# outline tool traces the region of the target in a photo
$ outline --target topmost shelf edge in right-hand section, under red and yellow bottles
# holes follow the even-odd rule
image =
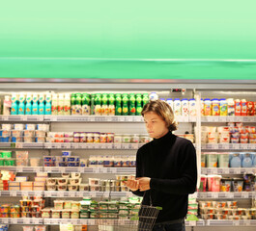
[[[202,116],[201,122],[256,122],[256,116]]]

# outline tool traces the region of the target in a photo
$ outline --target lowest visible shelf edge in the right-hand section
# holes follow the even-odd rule
[[[256,226],[256,219],[207,219],[206,226]]]

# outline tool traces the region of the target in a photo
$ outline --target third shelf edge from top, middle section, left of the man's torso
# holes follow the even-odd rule
[[[43,167],[48,173],[134,173],[135,167]]]

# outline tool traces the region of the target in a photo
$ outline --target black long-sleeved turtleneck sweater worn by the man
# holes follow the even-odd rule
[[[187,198],[196,190],[196,152],[191,141],[168,132],[140,147],[136,156],[136,177],[150,177],[151,189],[133,192],[143,196],[144,205],[162,207],[156,219],[165,222],[185,218]]]

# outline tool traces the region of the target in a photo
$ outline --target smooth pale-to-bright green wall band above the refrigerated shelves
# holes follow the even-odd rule
[[[255,9],[255,0],[2,2],[0,77],[256,79],[255,61],[223,62],[256,60]]]

